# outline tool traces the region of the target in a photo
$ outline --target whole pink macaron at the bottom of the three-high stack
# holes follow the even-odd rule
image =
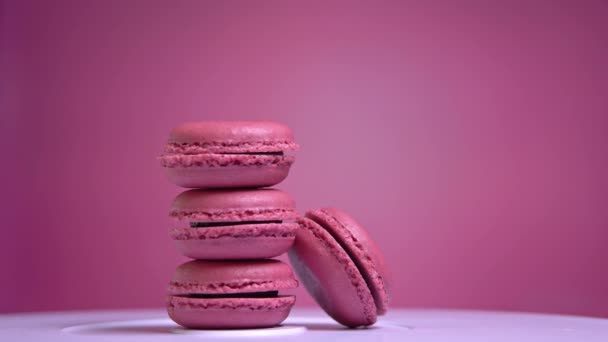
[[[278,292],[297,286],[291,268],[278,260],[193,260],[176,269],[167,312],[186,328],[272,327],[295,303]]]

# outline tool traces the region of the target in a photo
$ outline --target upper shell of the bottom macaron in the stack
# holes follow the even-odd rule
[[[169,294],[233,294],[278,291],[298,286],[291,268],[273,259],[246,261],[192,260],[181,264]]]

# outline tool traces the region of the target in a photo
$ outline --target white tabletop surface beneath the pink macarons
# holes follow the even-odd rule
[[[202,338],[202,339],[201,339]],[[344,329],[296,309],[280,327],[186,330],[164,310],[0,315],[0,341],[608,341],[608,319],[526,313],[395,310],[367,329]]]

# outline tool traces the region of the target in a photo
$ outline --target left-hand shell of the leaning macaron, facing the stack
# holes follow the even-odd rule
[[[289,260],[311,296],[345,326],[374,324],[374,298],[350,256],[316,222],[301,218],[298,223],[300,229],[288,252]]]

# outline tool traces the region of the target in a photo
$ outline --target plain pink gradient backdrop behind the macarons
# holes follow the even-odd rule
[[[608,2],[3,1],[0,312],[159,307],[177,123],[272,119],[393,306],[608,316]],[[298,305],[313,305],[302,289]]]

